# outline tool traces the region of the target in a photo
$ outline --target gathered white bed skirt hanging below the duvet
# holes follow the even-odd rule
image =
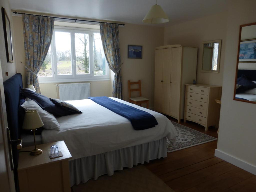
[[[167,156],[166,137],[141,145],[82,157],[69,161],[70,185],[78,185],[101,175],[113,175],[115,170],[133,167],[138,163],[149,162]]]

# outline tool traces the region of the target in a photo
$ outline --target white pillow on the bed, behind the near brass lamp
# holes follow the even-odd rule
[[[25,102],[21,105],[26,111],[37,110],[45,129],[60,130],[60,124],[56,120],[55,116],[51,113],[43,110],[35,101],[26,98]]]

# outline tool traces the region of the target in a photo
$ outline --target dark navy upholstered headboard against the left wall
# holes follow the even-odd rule
[[[20,137],[20,128],[18,120],[18,108],[20,100],[19,87],[23,88],[22,76],[20,73],[16,73],[14,76],[12,76],[4,82],[7,122],[8,127],[10,129],[10,136],[12,140],[17,140]],[[17,168],[18,150],[16,150],[16,146],[12,147],[14,168]]]

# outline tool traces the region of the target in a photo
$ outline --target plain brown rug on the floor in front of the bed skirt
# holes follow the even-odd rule
[[[86,183],[74,185],[73,192],[137,192],[158,191],[173,192],[161,179],[154,175],[144,165],[115,172],[114,175],[100,176],[97,180],[90,179]]]

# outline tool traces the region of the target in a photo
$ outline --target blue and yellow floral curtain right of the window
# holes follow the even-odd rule
[[[117,24],[100,23],[101,41],[109,68],[115,73],[112,97],[122,99],[121,59]]]

